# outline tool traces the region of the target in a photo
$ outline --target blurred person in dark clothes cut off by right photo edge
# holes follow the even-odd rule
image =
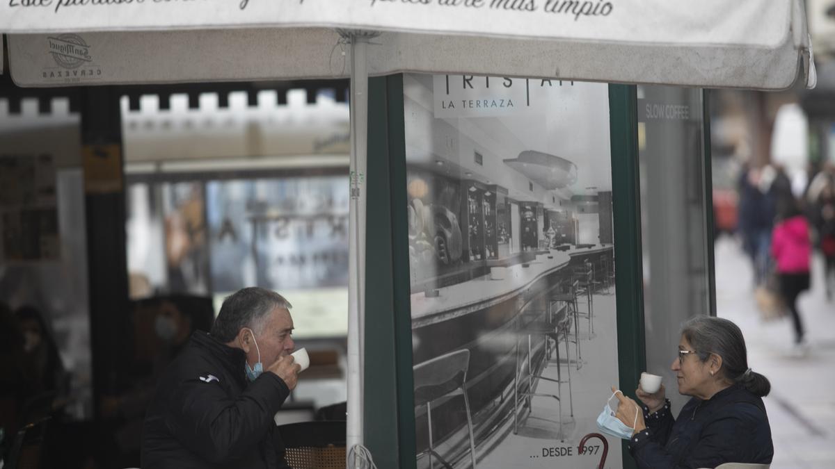
[[[819,175],[822,175],[822,184],[812,200],[812,223],[817,232],[817,247],[825,263],[823,284],[827,300],[832,301],[832,290],[835,290],[835,178],[823,171]]]

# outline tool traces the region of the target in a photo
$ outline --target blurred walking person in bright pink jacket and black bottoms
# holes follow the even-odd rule
[[[803,324],[797,310],[797,296],[809,289],[809,261],[812,242],[809,224],[796,204],[787,204],[777,216],[772,233],[772,256],[777,261],[780,293],[794,320],[795,345],[803,345]]]

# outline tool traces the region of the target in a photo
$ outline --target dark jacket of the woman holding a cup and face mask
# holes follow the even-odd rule
[[[741,385],[702,401],[692,398],[673,419],[670,402],[630,440],[641,469],[716,467],[724,462],[771,463],[772,430],[762,399]]]

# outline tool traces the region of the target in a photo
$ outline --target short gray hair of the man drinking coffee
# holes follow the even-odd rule
[[[243,288],[223,300],[220,314],[211,326],[211,335],[223,343],[235,340],[241,329],[248,327],[254,332],[261,332],[264,320],[272,310],[293,306],[275,291],[260,287]]]

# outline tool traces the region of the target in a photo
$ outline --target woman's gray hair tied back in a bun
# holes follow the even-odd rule
[[[721,356],[719,373],[726,380],[741,383],[756,396],[768,396],[772,384],[748,367],[745,338],[736,324],[722,318],[697,316],[684,324],[681,335],[696,350],[701,361],[707,361],[711,353]]]

